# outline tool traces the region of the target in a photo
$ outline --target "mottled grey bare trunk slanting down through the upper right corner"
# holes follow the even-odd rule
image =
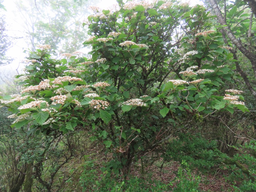
[[[249,50],[247,50],[233,35],[233,33],[231,32],[231,29],[228,27],[227,21],[224,19],[220,11],[220,8],[218,7],[216,0],[210,0],[209,2],[214,12],[216,13],[219,23],[222,25],[223,29],[225,30],[225,33],[227,34],[228,38],[244,54],[244,56],[250,60],[252,64],[252,70],[254,72],[254,77],[256,78],[256,55],[250,52]]]

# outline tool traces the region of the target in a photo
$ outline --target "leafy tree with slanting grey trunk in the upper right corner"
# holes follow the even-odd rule
[[[256,54],[255,45],[250,44],[252,39],[252,20],[253,14],[243,14],[247,9],[246,2],[249,3],[252,13],[255,14],[253,5],[255,1],[235,1],[228,2],[226,0],[217,2],[216,0],[205,1],[209,2],[212,10],[216,13],[218,22],[222,26],[220,31],[226,42],[231,44],[234,50],[230,50],[236,62],[236,68],[244,79],[248,89],[256,98],[255,85],[250,81],[248,74],[246,74],[237,61],[237,51],[240,51],[245,58],[251,63],[253,76],[256,78]],[[242,39],[242,40],[241,40]],[[248,44],[249,42],[249,44]],[[254,42],[255,44],[255,42]],[[249,66],[247,66],[249,67]]]

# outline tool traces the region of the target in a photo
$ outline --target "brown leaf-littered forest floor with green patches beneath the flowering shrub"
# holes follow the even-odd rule
[[[85,170],[86,173],[93,170],[94,180],[92,182],[85,183],[88,185],[86,191],[92,191],[90,188],[95,184],[96,180],[100,181],[102,172],[100,168],[103,167],[104,163],[111,159],[110,156],[102,155],[99,151],[95,151],[92,156],[87,156],[86,161],[84,158],[74,158],[70,164],[66,167],[63,167],[60,171],[60,175],[69,174],[70,169],[76,168],[76,173],[73,175],[72,180],[70,182],[65,183],[64,188],[65,192],[82,192],[80,176],[83,175]],[[146,159],[146,158],[145,158]],[[148,157],[150,159],[150,157]],[[88,166],[86,162],[92,162]],[[132,168],[129,177],[137,177],[145,182],[149,180],[160,181],[161,183],[168,184],[172,182],[172,188],[175,188],[176,185],[180,182],[180,178],[178,175],[178,170],[180,167],[180,162],[170,161],[163,163],[163,159],[160,158],[157,161],[148,161],[143,162],[143,166],[141,164],[141,160],[135,163]],[[188,175],[186,175],[186,170],[184,169],[185,174],[183,176],[187,177],[189,180],[197,180],[199,181],[198,190],[205,192],[233,192],[234,188],[233,184],[229,182],[226,177],[228,176],[228,170],[216,169],[215,171],[209,171],[206,173],[199,172],[198,170],[191,171]],[[190,175],[190,176],[189,176]],[[198,178],[199,179],[196,179]],[[128,179],[129,179],[128,177]],[[58,182],[56,182],[58,183]],[[151,188],[154,185],[154,182],[148,183],[148,188]],[[90,187],[91,186],[91,187]],[[54,189],[52,191],[55,191]],[[61,190],[60,190],[61,191]],[[151,191],[151,190],[149,190]],[[159,190],[160,192],[161,190]],[[191,190],[192,191],[192,190]],[[164,190],[163,190],[164,192]],[[186,192],[186,190],[185,190]]]

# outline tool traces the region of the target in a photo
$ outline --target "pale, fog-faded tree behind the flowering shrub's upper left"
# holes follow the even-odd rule
[[[26,4],[17,1],[30,49],[34,51],[38,44],[49,44],[60,52],[79,50],[85,34],[82,20],[90,3],[80,6],[73,0],[29,0]]]

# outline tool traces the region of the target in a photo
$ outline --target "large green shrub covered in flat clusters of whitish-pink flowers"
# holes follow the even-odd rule
[[[241,95],[224,97],[232,63],[203,7],[118,2],[118,10],[97,9],[88,18],[91,37],[84,45],[92,47],[92,58],[56,60],[37,50],[28,58],[22,95],[1,101],[16,114],[17,128],[90,130],[91,140],[113,154],[103,171],[126,175],[141,156],[193,127],[195,117],[248,109],[237,101]]]

